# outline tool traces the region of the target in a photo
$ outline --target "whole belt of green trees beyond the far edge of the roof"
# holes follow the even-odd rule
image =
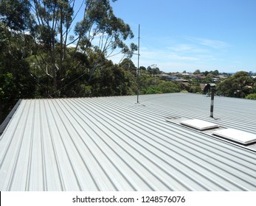
[[[201,93],[200,83],[219,75],[197,69],[169,82],[155,64],[136,68],[137,46],[126,44],[134,34],[111,0],[0,0],[0,20],[0,123],[18,99]],[[110,57],[121,53],[114,64]],[[226,75],[217,92],[254,99],[252,76]]]

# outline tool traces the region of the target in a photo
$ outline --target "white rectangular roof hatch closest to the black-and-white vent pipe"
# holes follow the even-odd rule
[[[209,121],[203,121],[196,118],[181,121],[181,124],[199,130],[213,129],[219,127],[218,124],[214,124]]]

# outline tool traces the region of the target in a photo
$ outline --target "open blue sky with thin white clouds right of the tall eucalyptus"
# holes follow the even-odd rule
[[[131,26],[134,43],[140,24],[139,65],[256,72],[255,0],[118,0],[112,7]]]

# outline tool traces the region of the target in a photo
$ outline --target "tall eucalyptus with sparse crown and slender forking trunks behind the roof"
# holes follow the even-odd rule
[[[120,48],[128,56],[136,49],[134,44],[131,49],[125,45],[124,40],[133,38],[133,32],[128,24],[114,15],[109,0],[33,2],[37,23],[35,34],[38,35],[35,39],[41,40],[49,52],[47,57],[41,55],[38,63],[42,63],[40,68],[52,77],[55,90],[60,89],[60,81],[70,63],[75,62],[77,52],[90,57],[91,52],[95,54],[94,59],[90,59],[89,68],[85,68],[85,72],[90,74],[90,82],[95,70],[100,68],[105,58],[114,54],[115,49]],[[77,5],[78,10],[75,9]],[[79,16],[82,18],[77,19]],[[68,49],[70,46],[75,49]],[[80,61],[73,66],[80,66]]]

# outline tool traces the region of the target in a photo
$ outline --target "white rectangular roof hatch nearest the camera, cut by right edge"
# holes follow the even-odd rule
[[[256,135],[249,133],[249,132],[243,132],[238,129],[220,129],[215,132],[212,132],[212,135],[217,135],[221,138],[229,139],[230,141],[235,141],[242,144],[249,144],[256,142]]]

